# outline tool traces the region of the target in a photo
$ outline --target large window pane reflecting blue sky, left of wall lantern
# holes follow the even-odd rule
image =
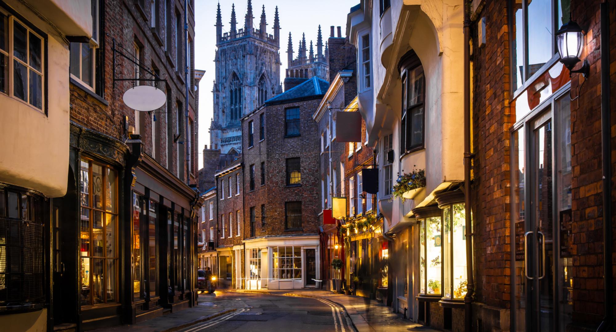
[[[553,29],[551,0],[527,1],[529,17],[528,47],[529,47],[529,77],[554,55],[552,52]]]

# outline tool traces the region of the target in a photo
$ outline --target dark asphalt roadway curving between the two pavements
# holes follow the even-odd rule
[[[344,310],[321,299],[216,291],[216,296],[201,295],[199,301],[206,301],[200,306],[237,310],[180,331],[353,331]]]

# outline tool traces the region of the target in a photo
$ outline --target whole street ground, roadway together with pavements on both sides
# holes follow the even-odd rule
[[[304,299],[300,299],[304,298]],[[199,331],[438,331],[413,323],[377,301],[326,290],[217,290],[198,306],[134,325],[95,330]]]

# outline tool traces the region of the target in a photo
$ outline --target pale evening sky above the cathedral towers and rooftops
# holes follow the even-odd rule
[[[229,32],[231,20],[231,5],[235,3],[237,26],[243,28],[248,0],[222,0],[222,32]],[[195,69],[205,70],[205,76],[199,84],[199,168],[203,167],[204,144],[209,146],[209,125],[212,119],[212,87],[214,82],[214,51],[216,50],[216,5],[217,0],[195,1]],[[289,32],[293,38],[293,51],[297,56],[302,33],[306,33],[306,48],[310,49],[310,40],[317,53],[317,30],[321,25],[323,44],[330,36],[330,26],[342,26],[342,35],[346,30],[347,14],[351,7],[359,4],[359,0],[255,0],[253,1],[253,23],[256,28],[261,22],[262,6],[265,5],[267,17],[267,33],[274,34],[274,10],[278,6],[280,17],[280,82],[283,81],[286,69],[286,46]]]

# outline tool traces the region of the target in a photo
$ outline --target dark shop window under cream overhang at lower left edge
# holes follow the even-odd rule
[[[0,310],[45,302],[43,197],[0,188]]]

